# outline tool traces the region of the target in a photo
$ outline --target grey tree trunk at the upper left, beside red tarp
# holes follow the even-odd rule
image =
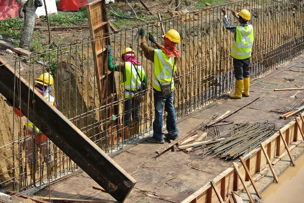
[[[20,40],[20,47],[22,49],[29,50],[31,48],[33,30],[35,26],[35,11],[37,7],[34,4],[34,0],[29,0],[24,5],[24,29]]]

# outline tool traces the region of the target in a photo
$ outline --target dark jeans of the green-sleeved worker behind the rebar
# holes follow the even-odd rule
[[[135,123],[139,122],[139,108],[140,108],[140,102],[137,99],[130,98],[125,99],[124,102],[124,125],[129,126],[130,117],[132,114],[132,118],[134,119]]]

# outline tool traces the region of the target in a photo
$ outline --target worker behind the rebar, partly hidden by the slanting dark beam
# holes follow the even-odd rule
[[[52,85],[54,85],[54,79],[52,75],[46,72],[40,75],[40,77],[35,80],[35,83],[35,91],[43,95],[43,97],[48,100],[55,108],[60,110],[57,100],[50,95],[50,92],[52,91]],[[13,106],[12,99],[6,100],[6,103],[9,106]],[[24,116],[17,108],[14,109],[14,112],[20,117]],[[40,150],[40,158],[43,162],[41,165],[46,164],[47,161],[49,161],[51,174],[53,174],[55,171],[52,142],[47,138],[46,135],[42,134],[39,128],[35,127],[28,118],[25,121],[24,127],[25,134],[28,135],[26,136],[25,143],[27,163],[31,179],[34,183],[35,180],[39,180],[38,150]],[[49,160],[47,154],[49,155]]]

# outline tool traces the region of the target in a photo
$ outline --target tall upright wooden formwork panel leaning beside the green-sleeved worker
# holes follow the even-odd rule
[[[105,0],[97,0],[87,5],[87,13],[92,37],[92,49],[95,60],[96,83],[101,106],[103,136],[108,144],[117,142],[119,119],[111,120],[112,115],[118,115],[117,90],[113,72],[107,69],[107,52],[105,46],[110,44],[106,33],[108,19]],[[115,105],[112,105],[115,104]]]

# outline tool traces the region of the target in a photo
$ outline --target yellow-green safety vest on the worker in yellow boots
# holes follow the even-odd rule
[[[231,47],[231,56],[235,59],[248,59],[251,57],[251,49],[254,40],[253,27],[237,26],[236,39]]]

